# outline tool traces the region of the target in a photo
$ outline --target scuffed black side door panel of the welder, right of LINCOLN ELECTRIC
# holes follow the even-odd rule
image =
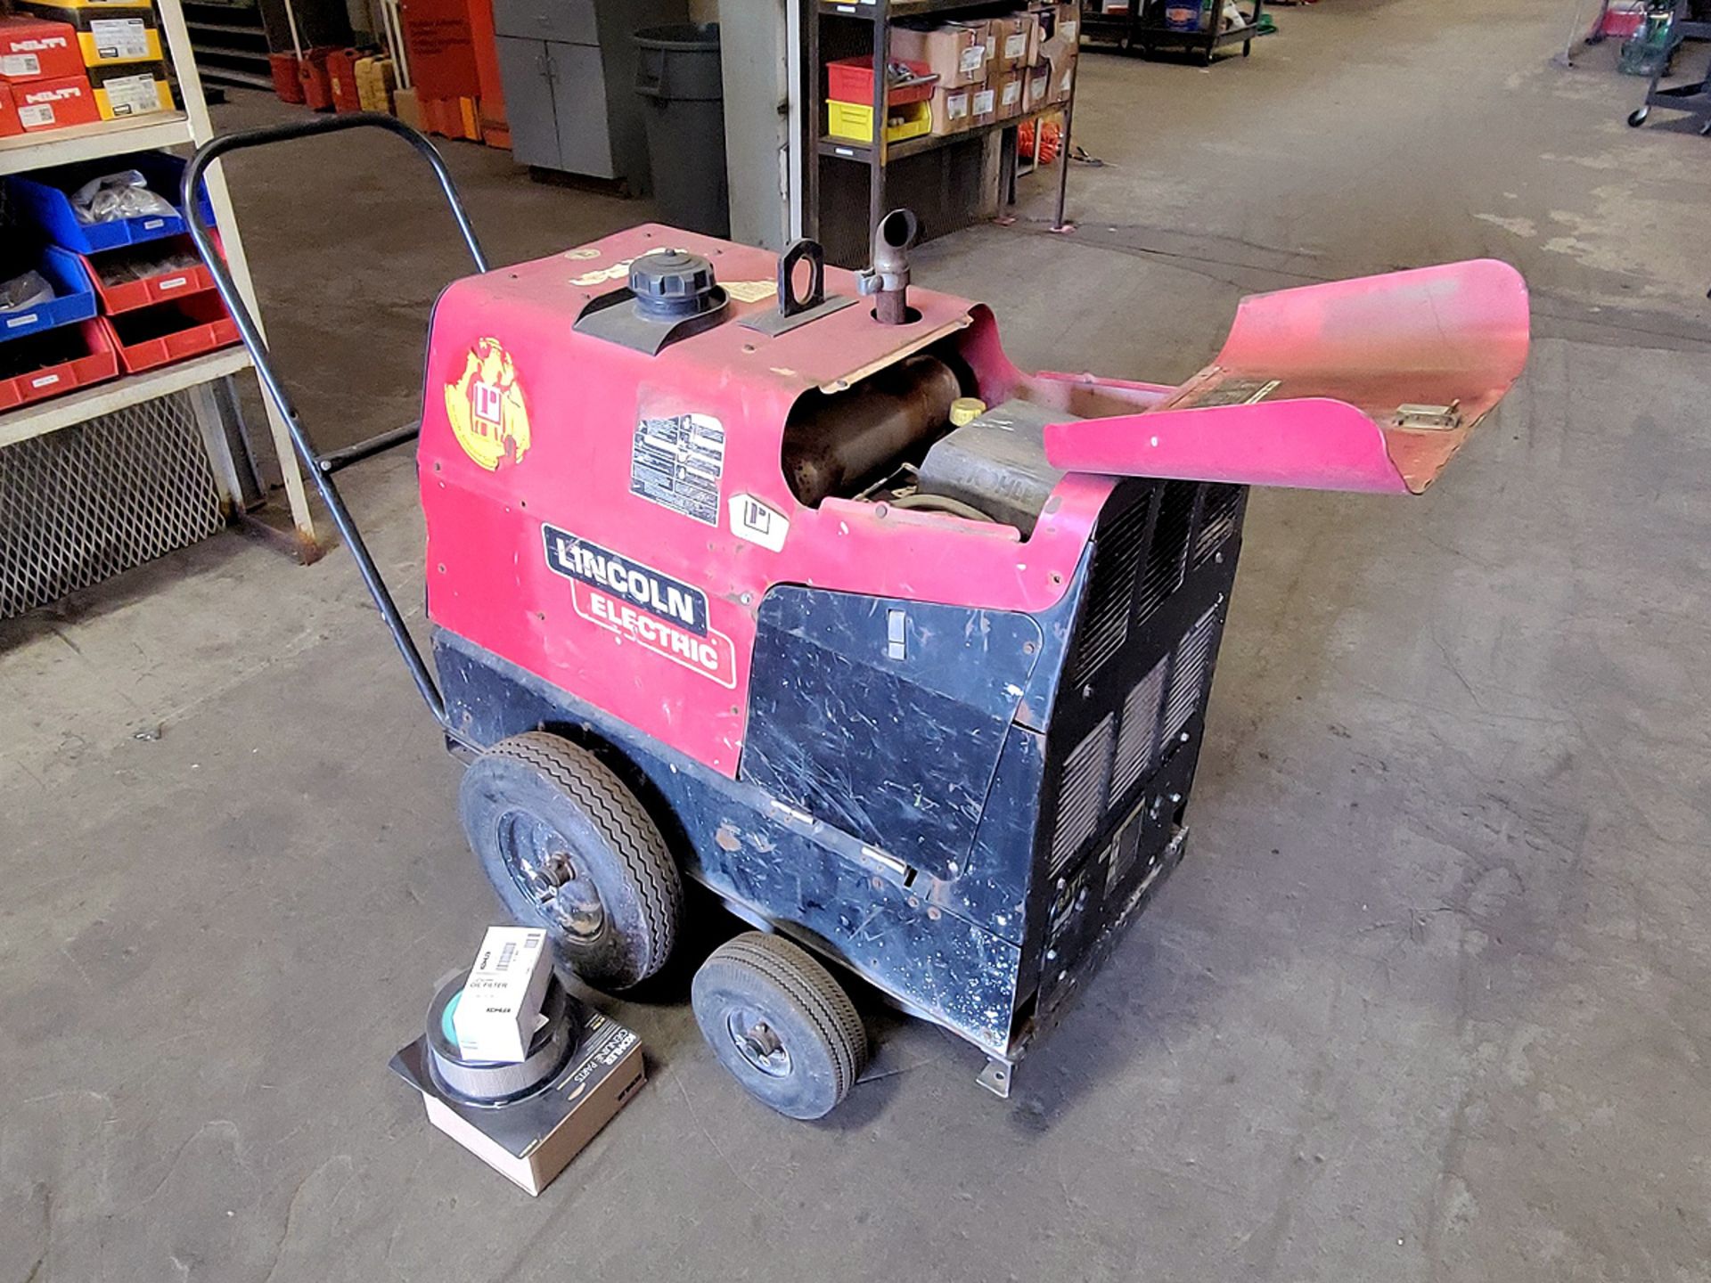
[[[773,588],[737,778],[951,878],[1039,647],[1021,614]]]

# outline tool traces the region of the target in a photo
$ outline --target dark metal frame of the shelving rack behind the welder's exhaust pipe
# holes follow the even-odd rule
[[[806,200],[802,204],[802,231],[806,236],[816,239],[821,238],[821,180],[820,180],[820,163],[823,159],[832,159],[837,163],[854,163],[867,166],[867,234],[871,238],[873,229],[879,226],[879,219],[885,217],[888,210],[888,169],[898,161],[905,161],[912,156],[922,156],[926,152],[936,152],[946,147],[960,147],[979,139],[986,139],[991,133],[999,133],[1003,137],[1003,159],[1001,159],[1001,180],[999,190],[1004,193],[1006,202],[1015,202],[1015,173],[1016,173],[1016,128],[1027,118],[1039,120],[1042,115],[1054,115],[1057,111],[1064,116],[1064,137],[1063,137],[1063,168],[1057,176],[1057,222],[1056,226],[1064,226],[1064,197],[1066,197],[1066,178],[1069,173],[1069,121],[1075,106],[1075,91],[1071,91],[1068,101],[1056,103],[1044,113],[1030,113],[1028,116],[1011,116],[1009,120],[996,120],[977,128],[963,130],[960,133],[934,135],[927,133],[917,139],[905,139],[903,142],[888,142],[885,137],[885,116],[886,116],[886,82],[885,75],[873,77],[873,120],[874,120],[874,140],[866,147],[857,142],[845,142],[844,139],[825,137],[825,103],[826,103],[826,77],[825,77],[825,60],[821,55],[821,22],[830,21],[859,21],[871,24],[871,51],[873,65],[885,67],[890,62],[891,53],[891,24],[898,19],[909,17],[951,17],[955,14],[965,14],[972,17],[992,17],[1008,10],[1015,10],[1016,5],[1006,0],[801,0],[802,2],[802,33],[806,38],[808,56],[802,60],[802,121],[804,132],[808,135],[806,154],[809,163],[806,166]],[[950,231],[946,228],[944,231]],[[866,251],[866,241],[862,243],[862,251]],[[828,251],[830,253],[830,251]],[[837,257],[837,255],[833,255]],[[847,257],[847,255],[845,255]],[[861,260],[866,262],[864,258]],[[845,263],[849,267],[859,265],[857,262]]]

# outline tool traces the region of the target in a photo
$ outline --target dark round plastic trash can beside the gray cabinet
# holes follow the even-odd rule
[[[674,228],[729,236],[719,24],[643,27],[635,43],[659,217]]]

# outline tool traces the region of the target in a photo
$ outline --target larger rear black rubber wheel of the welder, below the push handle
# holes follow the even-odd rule
[[[683,879],[640,799],[585,748],[530,730],[464,775],[469,845],[518,922],[542,925],[592,985],[626,989],[666,965]]]

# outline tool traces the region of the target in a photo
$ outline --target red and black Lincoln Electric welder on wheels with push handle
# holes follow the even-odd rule
[[[435,306],[417,470],[433,671],[255,323],[204,257],[453,751],[469,842],[561,961],[666,961],[684,876],[758,931],[693,982],[755,1097],[862,1069],[842,979],[1011,1066],[1182,859],[1247,488],[1420,493],[1507,392],[1495,262],[1242,301],[1181,387],[1030,375],[909,287],[914,219],[823,267],[660,226],[488,269]],[[828,970],[821,961],[833,963]],[[833,979],[833,972],[840,979]]]

